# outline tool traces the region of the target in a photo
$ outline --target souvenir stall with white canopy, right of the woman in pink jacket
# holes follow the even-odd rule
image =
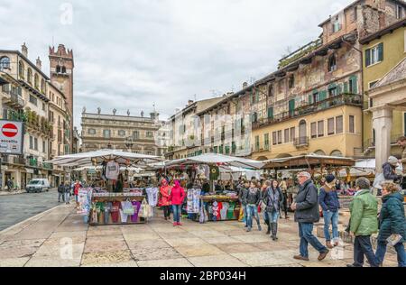
[[[231,190],[221,193],[215,191],[215,183],[221,180],[220,168],[230,170],[229,167],[258,170],[263,167],[263,163],[215,153],[166,162],[167,172],[180,170],[183,173],[189,170],[189,173],[192,173],[189,175],[189,186],[193,187],[187,189],[185,201],[191,220],[205,223],[238,219],[241,208],[238,194]],[[208,181],[210,190],[202,191],[202,185]]]

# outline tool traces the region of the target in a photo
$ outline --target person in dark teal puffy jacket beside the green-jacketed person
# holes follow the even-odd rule
[[[379,234],[376,258],[380,264],[386,253],[387,239],[392,236],[398,240],[394,249],[398,257],[398,266],[406,267],[406,253],[403,243],[406,243],[406,219],[404,217],[403,195],[399,186],[392,182],[383,183],[383,205],[379,215]]]

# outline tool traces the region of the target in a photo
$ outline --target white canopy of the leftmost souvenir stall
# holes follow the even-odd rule
[[[56,157],[51,162],[60,166],[88,166],[94,163],[100,164],[106,160],[115,160],[121,165],[139,166],[140,164],[147,165],[148,163],[161,161],[158,156],[133,153],[133,152],[120,152],[116,150],[100,150],[96,152],[80,152],[76,154],[68,154]]]

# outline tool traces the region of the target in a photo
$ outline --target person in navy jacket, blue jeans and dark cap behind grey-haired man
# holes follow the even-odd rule
[[[326,182],[320,188],[318,193],[318,204],[323,210],[324,218],[324,237],[326,246],[331,249],[338,245],[338,209],[340,202],[338,200],[336,177],[332,174],[326,176]],[[330,224],[333,230],[333,244],[331,244]]]

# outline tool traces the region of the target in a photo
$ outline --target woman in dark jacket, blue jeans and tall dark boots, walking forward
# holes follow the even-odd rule
[[[263,203],[266,205],[265,211],[272,231],[272,241],[276,241],[278,240],[278,237],[276,236],[278,233],[278,220],[283,205],[283,194],[277,180],[273,180],[271,186],[266,189]]]

